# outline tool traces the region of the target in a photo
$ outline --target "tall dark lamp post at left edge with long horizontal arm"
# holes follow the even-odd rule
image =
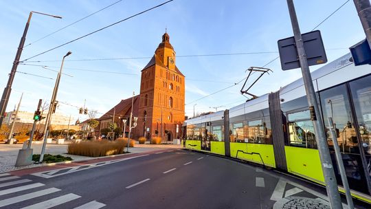
[[[62,17],[52,15],[52,14],[45,14],[45,13],[34,12],[34,11],[30,12],[30,15],[28,16],[27,23],[25,25],[25,30],[23,31],[21,41],[19,42],[18,50],[16,51],[16,57],[14,58],[12,70],[10,71],[10,74],[9,74],[8,83],[6,84],[6,87],[3,91],[3,96],[1,96],[1,100],[0,100],[0,126],[1,126],[1,124],[3,124],[3,119],[5,117],[4,113],[6,111],[6,107],[8,106],[8,100],[9,100],[9,97],[10,97],[10,93],[12,92],[12,83],[13,83],[13,80],[14,80],[14,76],[16,74],[16,68],[18,67],[18,64],[19,64],[19,59],[21,58],[23,46],[25,45],[25,36],[27,35],[27,30],[28,30],[28,27],[30,26],[32,13],[43,14],[43,15],[46,15],[46,16],[49,16],[49,17],[55,17],[55,18],[59,18],[59,19],[62,18]]]

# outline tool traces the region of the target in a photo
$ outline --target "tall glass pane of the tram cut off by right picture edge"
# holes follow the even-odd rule
[[[371,168],[371,76],[350,83],[352,98],[355,104],[359,135],[362,140],[366,163]],[[369,172],[371,175],[371,172]]]

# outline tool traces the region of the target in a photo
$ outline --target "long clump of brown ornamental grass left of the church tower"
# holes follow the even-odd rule
[[[102,141],[87,141],[80,143],[69,144],[67,153],[71,155],[82,155],[88,157],[102,157],[106,155],[122,154],[124,147],[127,144],[124,140],[117,140],[110,142],[108,140]]]

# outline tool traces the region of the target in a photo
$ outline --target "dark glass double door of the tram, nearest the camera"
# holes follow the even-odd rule
[[[368,85],[371,85],[369,81]],[[337,132],[337,141],[342,153],[346,176],[348,178],[349,186],[353,190],[358,190],[364,193],[368,192],[368,171],[370,164],[367,164],[364,155],[365,145],[359,138],[359,124],[355,116],[355,104],[352,99],[352,91],[350,91],[348,84],[339,85],[331,89],[327,89],[319,93],[321,99],[322,113],[324,115],[324,124],[328,127],[328,117],[332,117],[335,123],[335,130]],[[369,86],[370,90],[371,86]],[[357,90],[356,90],[357,91]],[[368,94],[368,107],[363,109],[371,116],[370,107],[371,94]],[[366,114],[367,115],[367,114]],[[371,117],[370,117],[371,121]],[[370,122],[368,122],[370,127]],[[330,137],[328,133],[328,137]],[[341,185],[341,176],[336,165],[335,151],[332,140],[328,140],[331,158],[335,168],[335,175],[337,175],[337,183]],[[366,175],[367,173],[367,175]]]

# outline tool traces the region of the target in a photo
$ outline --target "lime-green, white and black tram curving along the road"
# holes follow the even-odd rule
[[[371,68],[355,67],[351,57],[346,54],[312,72],[321,111],[317,117],[322,117],[325,127],[327,118],[333,118],[352,196],[371,203]],[[325,184],[302,79],[231,109],[186,120],[183,129],[188,149],[243,159]],[[336,165],[333,142],[327,136]]]

